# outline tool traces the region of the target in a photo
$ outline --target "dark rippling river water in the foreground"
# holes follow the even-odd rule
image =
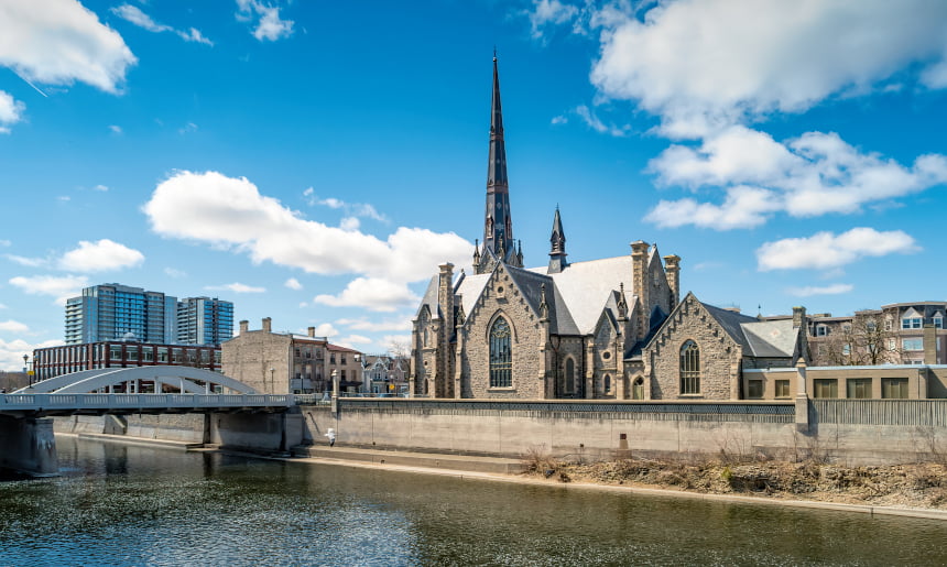
[[[947,522],[59,438],[0,565],[941,565]]]

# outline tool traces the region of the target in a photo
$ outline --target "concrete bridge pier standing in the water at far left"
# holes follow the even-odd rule
[[[42,477],[58,475],[53,419],[0,415],[0,468]]]

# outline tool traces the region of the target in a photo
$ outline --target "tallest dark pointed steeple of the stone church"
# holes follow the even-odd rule
[[[493,100],[490,111],[490,151],[487,163],[487,209],[483,216],[483,252],[477,273],[490,272],[497,262],[523,266],[513,239],[510,188],[507,182],[507,148],[503,142],[503,110],[500,74],[493,54]]]

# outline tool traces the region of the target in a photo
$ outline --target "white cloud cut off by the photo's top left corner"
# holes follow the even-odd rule
[[[29,81],[78,80],[117,92],[137,62],[121,35],[76,0],[8,0],[0,8],[0,65]]]

